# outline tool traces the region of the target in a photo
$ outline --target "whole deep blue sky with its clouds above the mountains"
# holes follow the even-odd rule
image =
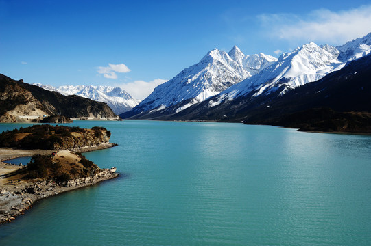
[[[0,0],[0,73],[143,99],[214,48],[278,57],[369,32],[370,1]]]

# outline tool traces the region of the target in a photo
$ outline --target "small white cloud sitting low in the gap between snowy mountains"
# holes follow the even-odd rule
[[[131,96],[136,99],[143,100],[151,94],[155,87],[165,83],[165,79],[154,79],[153,81],[134,81],[119,85],[123,90],[127,91]]]

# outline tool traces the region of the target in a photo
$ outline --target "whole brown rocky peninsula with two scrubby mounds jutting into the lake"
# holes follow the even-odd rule
[[[117,178],[116,168],[101,169],[82,152],[115,146],[106,128],[35,125],[0,134],[0,223],[22,215],[34,202]],[[3,163],[32,156],[28,165]]]

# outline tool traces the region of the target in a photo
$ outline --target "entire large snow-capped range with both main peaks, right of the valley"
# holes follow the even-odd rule
[[[278,59],[261,53],[246,56],[237,47],[228,54],[215,49],[200,63],[156,87],[151,95],[121,117],[241,122],[246,120],[247,109],[261,104],[271,106],[270,102],[276,98],[342,70],[348,62],[365,57],[370,51],[371,33],[337,47],[309,42],[283,53]],[[250,57],[254,57],[254,62],[247,62]],[[210,92],[205,88],[215,87],[219,92],[213,90],[214,96],[202,94]]]

